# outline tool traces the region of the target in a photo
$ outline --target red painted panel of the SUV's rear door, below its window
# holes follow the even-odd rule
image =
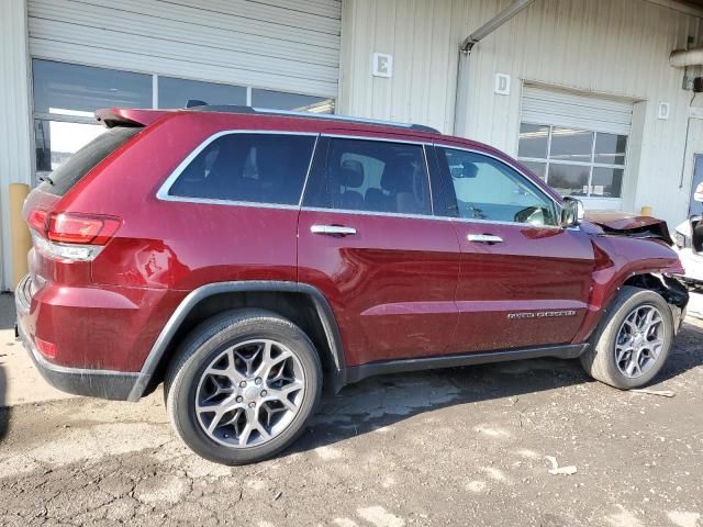
[[[312,225],[357,234],[323,236]],[[302,211],[299,240],[299,280],[330,301],[348,365],[446,351],[460,260],[450,222]]]

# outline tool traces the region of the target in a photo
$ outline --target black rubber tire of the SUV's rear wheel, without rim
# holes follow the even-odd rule
[[[234,448],[215,442],[196,414],[196,392],[203,370],[228,346],[253,338],[276,340],[289,348],[304,371],[300,410],[290,424],[267,442]],[[290,321],[264,310],[236,310],[216,315],[196,327],[170,361],[165,379],[168,414],[181,439],[199,456],[228,466],[268,459],[291,445],[304,430],[320,402],[322,366],[310,338]]]

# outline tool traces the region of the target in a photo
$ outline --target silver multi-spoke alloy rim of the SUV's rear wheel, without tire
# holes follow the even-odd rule
[[[220,445],[256,447],[290,425],[304,392],[304,370],[290,348],[270,339],[247,340],[220,352],[203,370],[196,414]]]

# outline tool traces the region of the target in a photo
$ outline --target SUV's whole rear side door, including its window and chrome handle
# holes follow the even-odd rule
[[[433,216],[425,145],[323,136],[298,234],[299,280],[328,299],[347,365],[446,351],[460,254]]]

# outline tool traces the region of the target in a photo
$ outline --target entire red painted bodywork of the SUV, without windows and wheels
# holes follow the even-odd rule
[[[179,302],[213,282],[300,281],[330,302],[346,363],[583,341],[634,272],[676,266],[663,245],[581,229],[160,201],[157,190],[203,141],[228,130],[269,130],[416,141],[504,154],[478,143],[372,124],[291,116],[112,110],[146,127],[65,197],[34,190],[35,210],[122,218],[92,262],[30,255],[33,296],[20,321],[56,346],[57,365],[135,372]],[[533,178],[526,170],[527,177]],[[559,197],[533,178],[545,193]],[[345,225],[356,236],[312,234]],[[494,234],[480,245],[468,234]],[[594,250],[594,247],[596,249]],[[605,255],[605,257],[603,257]],[[566,317],[511,319],[573,310]]]

